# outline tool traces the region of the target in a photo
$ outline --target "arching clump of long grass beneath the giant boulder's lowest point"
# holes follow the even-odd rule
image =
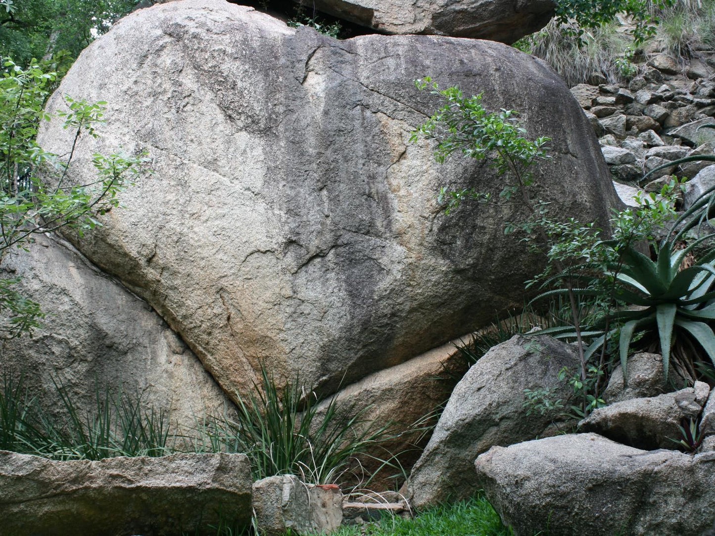
[[[236,394],[237,412],[199,422],[194,450],[245,452],[255,480],[298,475],[307,483],[337,482],[360,457],[395,437],[390,423],[375,425],[370,407],[325,403],[299,379],[277,387],[262,368],[261,384],[248,396]],[[378,460],[390,465],[390,457]]]

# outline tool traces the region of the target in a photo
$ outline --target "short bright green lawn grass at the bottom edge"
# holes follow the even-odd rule
[[[332,536],[511,536],[499,516],[485,500],[473,499],[440,505],[416,517],[403,519],[386,515],[380,522],[341,527]]]

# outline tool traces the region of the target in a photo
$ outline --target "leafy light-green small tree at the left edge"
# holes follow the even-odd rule
[[[0,79],[0,268],[6,254],[24,249],[37,234],[62,227],[81,235],[99,225],[96,217],[119,207],[117,194],[143,172],[146,152],[128,156],[96,153],[95,180],[72,184],[69,168],[82,136],[98,137],[95,126],[104,122],[104,104],[65,96],[68,111],[56,113],[64,128],[74,132],[68,157],[47,152],[36,142],[41,121],[51,119],[43,106],[56,78],[36,61],[22,69],[6,59]],[[31,333],[42,317],[39,304],[13,287],[18,277],[0,279],[0,338]]]

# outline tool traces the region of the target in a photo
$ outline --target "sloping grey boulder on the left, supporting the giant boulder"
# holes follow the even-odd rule
[[[172,424],[192,427],[194,415],[220,413],[229,402],[166,322],[142,299],[87,262],[57,237],[37,237],[29,252],[9,254],[6,274],[46,314],[31,339],[0,342],[0,367],[24,374],[47,410],[61,407],[53,379],[84,415],[96,410],[96,389],[121,385],[143,406],[168,411]],[[230,403],[230,402],[229,402]]]

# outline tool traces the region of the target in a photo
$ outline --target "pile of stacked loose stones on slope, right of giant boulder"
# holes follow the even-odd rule
[[[713,154],[715,130],[699,127],[715,123],[715,55],[680,66],[657,54],[627,88],[578,84],[571,93],[591,121],[617,182],[636,182],[676,159]],[[662,169],[646,191],[659,190],[671,174],[694,179],[708,165],[690,162]]]

